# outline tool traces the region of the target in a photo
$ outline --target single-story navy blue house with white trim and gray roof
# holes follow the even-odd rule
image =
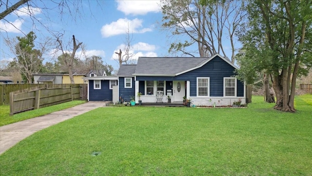
[[[156,102],[156,91],[161,90],[163,102],[170,95],[175,103],[182,103],[186,96],[194,105],[229,106],[238,99],[246,102],[245,85],[233,77],[235,69],[238,67],[219,54],[209,58],[139,57],[137,65],[120,66],[116,76],[84,79],[89,84],[89,101],[129,100],[141,92],[143,103]],[[113,80],[118,86],[111,86]]]

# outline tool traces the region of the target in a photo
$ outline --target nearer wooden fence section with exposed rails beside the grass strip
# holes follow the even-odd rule
[[[10,92],[10,115],[25,110],[36,110],[80,99],[79,85],[65,88],[37,88],[24,92]]]

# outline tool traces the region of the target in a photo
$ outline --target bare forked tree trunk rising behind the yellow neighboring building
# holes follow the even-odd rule
[[[60,37],[57,38],[57,42],[59,43],[58,49],[62,52],[62,57],[63,57],[64,63],[68,69],[70,82],[71,82],[71,84],[74,84],[75,82],[74,82],[74,77],[73,77],[73,62],[75,60],[76,51],[78,50],[78,48],[80,47],[82,42],[76,41],[75,35],[73,35],[73,51],[72,52],[70,52],[66,49],[68,45],[63,46]],[[78,42],[78,44],[77,44],[77,42]]]

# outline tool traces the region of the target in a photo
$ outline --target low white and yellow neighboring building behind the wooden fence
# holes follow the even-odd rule
[[[34,73],[34,84],[71,84],[69,74]],[[75,84],[84,84],[84,74],[73,74]]]

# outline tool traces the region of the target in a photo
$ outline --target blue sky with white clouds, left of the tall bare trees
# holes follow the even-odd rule
[[[55,6],[51,1],[34,2],[39,7]],[[100,56],[104,63],[112,65],[115,69],[118,69],[118,63],[113,60],[117,58],[115,52],[119,48],[123,50],[122,44],[126,41],[128,24],[132,37],[132,53],[136,53],[134,58],[173,56],[168,53],[168,49],[171,40],[174,39],[168,37],[170,35],[168,31],[161,29],[162,14],[159,0],[105,0],[98,2],[82,0],[81,3],[83,8],[79,9],[78,15],[74,15],[74,18],[68,14],[68,11],[61,14],[62,17],[60,17],[57,8],[52,10],[34,9],[34,14],[50,29],[65,31],[64,42],[69,43],[71,36],[75,35],[76,39],[84,44],[87,56]],[[3,7],[0,8],[2,12]],[[19,10],[22,11],[22,8],[20,7]],[[16,36],[23,36],[22,32],[27,34],[32,30],[36,33],[38,41],[52,37],[46,28],[43,28],[38,22],[35,22],[34,25],[31,18],[23,13],[15,12],[6,16],[5,19],[15,24],[20,30],[6,21],[0,21],[1,61],[14,57],[5,46],[3,37],[16,38]],[[81,50],[78,51],[77,56],[79,55],[81,56]],[[80,59],[83,57],[81,56]],[[48,57],[45,61],[51,62]]]

